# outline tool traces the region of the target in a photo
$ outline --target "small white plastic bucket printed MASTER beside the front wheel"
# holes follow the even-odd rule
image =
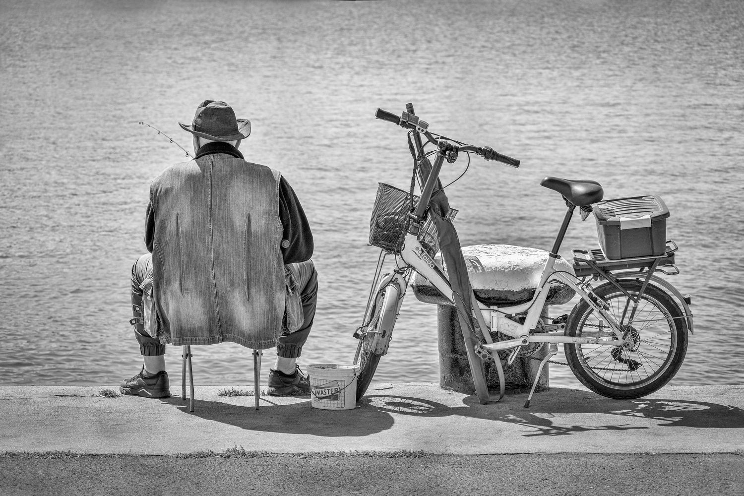
[[[356,408],[356,365],[310,364],[310,405],[321,410]]]

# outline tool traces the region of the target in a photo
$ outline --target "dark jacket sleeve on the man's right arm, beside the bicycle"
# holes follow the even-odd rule
[[[281,244],[284,263],[310,260],[314,249],[310,224],[295,190],[283,176],[279,179],[279,219],[284,228]]]

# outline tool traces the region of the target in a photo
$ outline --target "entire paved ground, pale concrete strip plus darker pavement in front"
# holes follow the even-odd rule
[[[175,382],[179,378],[173,377]],[[551,387],[479,405],[373,383],[355,410],[309,396],[99,396],[0,387],[2,495],[741,495],[744,386],[618,401]]]

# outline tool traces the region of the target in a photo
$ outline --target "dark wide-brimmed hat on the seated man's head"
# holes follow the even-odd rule
[[[250,120],[236,119],[231,106],[215,100],[204,100],[196,109],[191,125],[179,122],[179,126],[214,141],[243,140],[251,134]]]

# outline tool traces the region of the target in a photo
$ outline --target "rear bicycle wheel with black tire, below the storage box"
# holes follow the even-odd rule
[[[634,296],[641,291],[638,280],[622,280],[618,284]],[[612,283],[598,287],[594,294],[609,304],[609,312],[620,321],[628,297]],[[564,335],[580,336],[582,329],[596,330],[603,325],[602,321],[601,315],[581,300],[568,316]],[[682,366],[687,352],[682,309],[666,292],[648,285],[638,302],[631,332],[638,336],[634,350],[564,344],[565,357],[574,376],[594,393],[612,399],[641,398],[664,387]]]

